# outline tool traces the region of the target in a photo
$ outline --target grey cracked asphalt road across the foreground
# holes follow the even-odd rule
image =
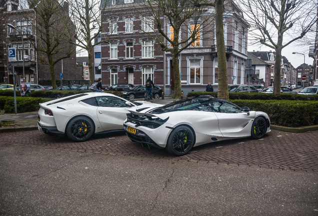
[[[0,215],[318,215],[314,171],[1,143],[0,182]]]

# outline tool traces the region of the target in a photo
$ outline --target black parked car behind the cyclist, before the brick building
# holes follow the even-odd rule
[[[157,99],[162,95],[162,89],[157,85],[152,87],[152,97]],[[134,98],[143,98],[145,94],[145,85],[136,85],[130,88],[129,90],[122,91],[124,98],[134,99]]]

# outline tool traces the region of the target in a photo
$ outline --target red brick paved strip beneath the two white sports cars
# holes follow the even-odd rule
[[[291,133],[272,130],[263,139],[219,141],[192,148],[188,154],[173,156],[161,149],[132,142],[124,132],[96,135],[86,142],[49,136],[37,130],[2,133],[3,144],[40,146],[81,152],[94,152],[190,162],[318,171],[318,131]]]

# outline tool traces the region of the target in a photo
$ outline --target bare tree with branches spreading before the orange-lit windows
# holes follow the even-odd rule
[[[158,43],[163,51],[172,55],[174,72],[174,98],[181,97],[181,82],[179,72],[179,53],[195,43],[204,33],[210,32],[213,21],[206,7],[196,7],[189,0],[145,0],[145,6],[140,10],[142,20],[152,31],[143,31]],[[164,29],[168,23],[170,29]],[[139,26],[143,30],[142,26]],[[186,35],[186,36],[185,36]],[[165,83],[165,81],[164,81]]]

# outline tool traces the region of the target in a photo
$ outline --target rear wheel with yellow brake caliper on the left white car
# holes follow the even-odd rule
[[[66,134],[73,141],[86,141],[94,134],[94,124],[88,117],[74,117],[67,124]]]

